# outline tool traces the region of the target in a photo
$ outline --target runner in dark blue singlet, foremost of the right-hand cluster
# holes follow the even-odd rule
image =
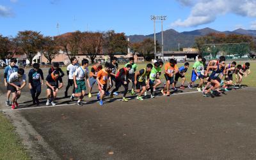
[[[205,86],[205,88],[203,89],[203,94],[204,96],[206,94],[208,94],[209,92],[214,92],[214,91],[217,91],[218,93],[220,93],[220,90],[219,90],[219,87],[220,87],[220,83],[221,83],[221,79],[219,77],[219,75],[221,73],[223,73],[224,75],[224,72],[225,72],[225,61],[222,61],[222,59],[220,61],[218,61],[218,65],[217,66],[208,66],[207,67],[207,70],[205,72],[205,75],[208,74],[208,71],[209,70],[212,70],[212,73],[211,75],[209,76],[208,78],[208,84]],[[209,85],[212,85],[211,87],[209,87],[209,89],[207,89],[207,87]]]

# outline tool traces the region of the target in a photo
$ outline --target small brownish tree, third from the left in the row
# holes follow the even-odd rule
[[[60,54],[60,47],[57,45],[56,40],[51,36],[44,37],[42,44],[42,54],[50,63],[52,63],[52,59]]]

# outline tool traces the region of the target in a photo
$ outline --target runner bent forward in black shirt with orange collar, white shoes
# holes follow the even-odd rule
[[[46,105],[49,106],[51,103],[52,106],[55,106],[56,103],[54,103],[54,100],[56,99],[59,89],[61,89],[63,87],[63,82],[62,82],[62,78],[60,76],[60,71],[58,71],[58,70],[53,71],[51,74],[49,74],[45,78],[45,80],[46,80],[45,84],[47,85]],[[59,82],[60,82],[60,85],[59,85]]]

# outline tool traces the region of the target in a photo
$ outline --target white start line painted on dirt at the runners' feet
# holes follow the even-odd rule
[[[179,95],[179,94],[192,94],[192,93],[199,93],[199,91],[194,91],[194,92],[182,92],[182,93],[174,93],[171,94],[171,96],[175,96],[175,95]],[[159,96],[156,96],[159,97]],[[131,99],[131,98],[129,98]],[[121,101],[121,99],[116,99],[117,101]],[[106,101],[111,101],[111,100],[106,100]],[[86,104],[86,102],[84,102],[83,104]],[[50,107],[58,107],[58,106],[69,106],[69,105],[76,105],[76,103],[71,103],[71,104],[62,104],[62,105],[55,105],[55,106],[35,106],[35,107],[22,107],[22,108],[17,108],[15,110],[31,110],[31,109],[38,109],[38,108],[50,108]],[[15,111],[12,109],[6,109],[6,110],[1,110],[2,112],[6,112],[6,111]]]

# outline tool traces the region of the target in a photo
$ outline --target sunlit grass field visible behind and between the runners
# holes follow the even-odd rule
[[[188,84],[189,80],[191,79],[192,66],[193,66],[194,62],[189,62],[189,64],[190,64],[189,69],[186,73],[186,84]],[[243,64],[243,62],[237,62],[237,64]],[[147,62],[138,63],[138,69],[145,68],[146,65],[147,65]],[[179,67],[182,65],[184,65],[184,63],[181,63],[181,62],[178,63]],[[120,68],[124,67],[124,64],[119,64],[119,67]],[[89,69],[91,69],[91,68],[92,68],[92,66],[90,65]],[[61,69],[63,69],[64,73],[66,73],[67,67],[63,67]],[[256,72],[255,72],[256,71],[256,61],[250,61],[250,70],[251,70],[251,74],[249,76],[243,78],[242,84],[248,85],[250,87],[256,87],[256,80],[255,80],[256,79]],[[161,75],[161,79],[164,79],[163,75]],[[234,76],[234,80],[236,80],[235,76]]]

